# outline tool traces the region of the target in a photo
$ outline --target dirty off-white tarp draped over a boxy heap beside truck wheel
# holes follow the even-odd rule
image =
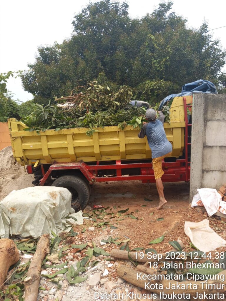
[[[59,234],[68,226],[68,215],[77,219],[70,219],[71,224],[83,224],[82,211],[74,213],[66,188],[36,186],[12,191],[0,202],[0,237]]]

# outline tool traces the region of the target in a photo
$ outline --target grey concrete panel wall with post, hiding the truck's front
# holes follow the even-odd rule
[[[226,182],[226,94],[193,95],[190,202],[197,188]]]

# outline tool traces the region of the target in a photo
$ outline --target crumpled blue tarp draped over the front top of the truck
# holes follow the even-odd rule
[[[171,94],[165,97],[159,104],[159,110],[162,110],[162,107],[167,103],[167,101],[171,100],[176,96],[193,95],[196,93],[218,94],[217,89],[212,82],[209,82],[209,80],[205,79],[199,79],[195,82],[190,82],[188,84],[183,85],[181,93]]]

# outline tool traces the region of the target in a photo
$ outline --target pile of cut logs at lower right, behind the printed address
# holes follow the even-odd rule
[[[156,262],[158,259],[148,259],[148,256],[145,254],[144,256],[140,256],[139,253],[135,252],[128,252],[128,251],[122,251],[122,250],[111,250],[111,256],[114,258],[119,259],[125,259],[125,260],[134,260],[135,262],[142,262],[144,265],[137,265],[135,268],[130,268],[127,265],[121,264],[117,268],[117,275],[124,279],[125,281],[129,282],[130,284],[133,284],[135,286],[138,286],[142,289],[145,289],[147,291],[151,291],[152,293],[159,294],[160,290],[159,287],[161,286],[161,290],[163,293],[171,294],[171,293],[177,293],[177,294],[183,294],[185,291],[187,294],[190,294],[190,296],[193,298],[196,296],[196,294],[222,294],[226,295],[226,288],[225,284],[226,281],[219,281],[219,280],[207,280],[207,281],[175,281],[175,280],[167,280],[164,277],[159,277],[158,280],[156,278],[152,279],[153,277],[148,277],[149,275],[162,275],[167,274],[167,271],[161,271],[161,266],[164,261],[168,260],[165,257],[165,254],[160,254],[162,257],[161,262],[158,262],[157,268],[149,268],[150,262]],[[171,259],[172,261],[178,261],[180,259]],[[194,261],[197,262],[197,260],[188,259],[186,258],[184,262],[188,261]],[[168,260],[169,261],[169,260]],[[201,260],[199,262],[203,262],[205,260]],[[139,274],[139,277],[137,276]],[[218,275],[224,274],[226,276],[226,270],[220,272]],[[148,280],[147,280],[148,279]],[[147,286],[147,282],[149,285]],[[205,285],[202,285],[202,283],[205,282]],[[217,283],[220,285],[217,285]],[[151,286],[151,288],[149,288]],[[193,289],[193,287],[196,286],[196,290]],[[175,289],[176,287],[176,289]],[[186,290],[184,289],[186,287]],[[204,298],[205,299],[205,298]],[[199,300],[201,300],[199,298]],[[217,298],[215,299],[217,300]]]

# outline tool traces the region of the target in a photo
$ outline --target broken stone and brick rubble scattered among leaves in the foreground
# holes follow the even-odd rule
[[[197,211],[192,209],[189,210],[189,215],[191,216],[191,220],[199,221],[204,218],[204,214],[202,211]],[[111,210],[112,211],[112,210]],[[178,213],[183,216],[182,209],[178,209]],[[85,210],[86,212],[86,210]],[[186,216],[188,213],[186,213]],[[165,216],[165,214],[162,213],[162,216]],[[183,218],[184,219],[184,218]],[[181,219],[181,220],[183,220]],[[211,220],[212,225],[218,226],[220,228],[220,224],[218,223],[220,221]],[[223,225],[223,224],[221,224]],[[79,231],[80,233],[76,237],[69,237],[67,238],[68,241],[70,240],[71,244],[87,244],[87,247],[93,247],[92,242],[96,244],[97,247],[101,247],[103,250],[110,253],[112,248],[119,248],[120,246],[114,245],[114,244],[105,244],[101,245],[102,239],[107,239],[109,235],[112,236],[122,236],[122,229],[118,227],[118,229],[113,229],[108,231],[109,228],[105,228],[104,230],[99,229],[97,227],[94,227],[94,231],[88,231],[88,228],[90,226],[90,221],[86,220],[85,225],[77,226],[77,228],[86,228],[86,231],[82,233],[79,231],[80,229],[74,229],[74,231]],[[119,225],[118,225],[119,226]],[[183,243],[185,244],[186,250],[189,250],[189,239],[182,233],[182,229],[180,231],[180,226],[183,226],[183,223],[179,223],[177,225],[177,228],[171,228],[172,231],[168,231],[167,239],[165,242],[161,242],[154,246],[156,250],[159,252],[164,252],[166,250],[171,250],[172,246],[168,244],[166,241],[168,240],[175,240],[176,238],[181,238]],[[224,227],[224,225],[223,225]],[[120,228],[120,229],[119,229]],[[112,232],[111,232],[112,231]],[[125,229],[124,229],[125,231]],[[222,228],[221,236],[225,237],[226,232]],[[150,237],[150,234],[149,234]],[[65,241],[67,241],[67,239]],[[65,243],[63,241],[62,243]],[[144,241],[143,241],[144,242]],[[141,246],[140,243],[137,243],[137,238],[133,237],[130,242],[130,248],[133,246]],[[61,244],[58,246],[61,247]],[[150,247],[147,244],[144,244],[144,247]],[[70,267],[71,265],[76,268],[77,262],[83,259],[86,256],[86,250],[81,250],[77,253],[75,253],[75,250],[69,249],[66,251],[66,256],[62,257],[60,261],[57,264],[61,264],[63,262],[67,261],[67,266]],[[109,259],[105,260],[105,259]],[[92,266],[92,262],[95,260],[99,260],[95,266]],[[47,262],[47,264],[50,264]],[[40,280],[40,287],[42,289],[39,290],[38,300],[44,300],[44,301],[50,301],[50,300],[56,300],[57,301],[70,301],[70,300],[77,300],[77,301],[85,301],[85,300],[117,300],[117,298],[109,299],[108,294],[118,294],[119,299],[118,300],[126,300],[126,294],[133,292],[135,294],[137,293],[148,293],[145,290],[140,289],[139,287],[135,287],[126,281],[124,279],[119,278],[116,273],[116,269],[118,265],[125,264],[129,267],[133,267],[133,264],[129,261],[124,261],[121,259],[113,259],[111,260],[110,256],[103,256],[99,255],[97,257],[92,256],[89,266],[86,269],[86,272],[84,272],[81,277],[86,277],[87,279],[81,283],[78,284],[69,284],[66,278],[66,274],[58,274],[56,277],[60,277],[61,280],[58,281],[58,283],[50,282],[48,278],[41,277]],[[41,274],[54,274],[59,269],[54,268],[46,268],[42,269]],[[45,290],[43,290],[45,289]],[[150,292],[149,292],[150,293]],[[121,294],[121,295],[120,295]],[[123,296],[121,298],[120,296]],[[106,297],[106,298],[105,298]],[[134,299],[135,300],[135,299]]]

